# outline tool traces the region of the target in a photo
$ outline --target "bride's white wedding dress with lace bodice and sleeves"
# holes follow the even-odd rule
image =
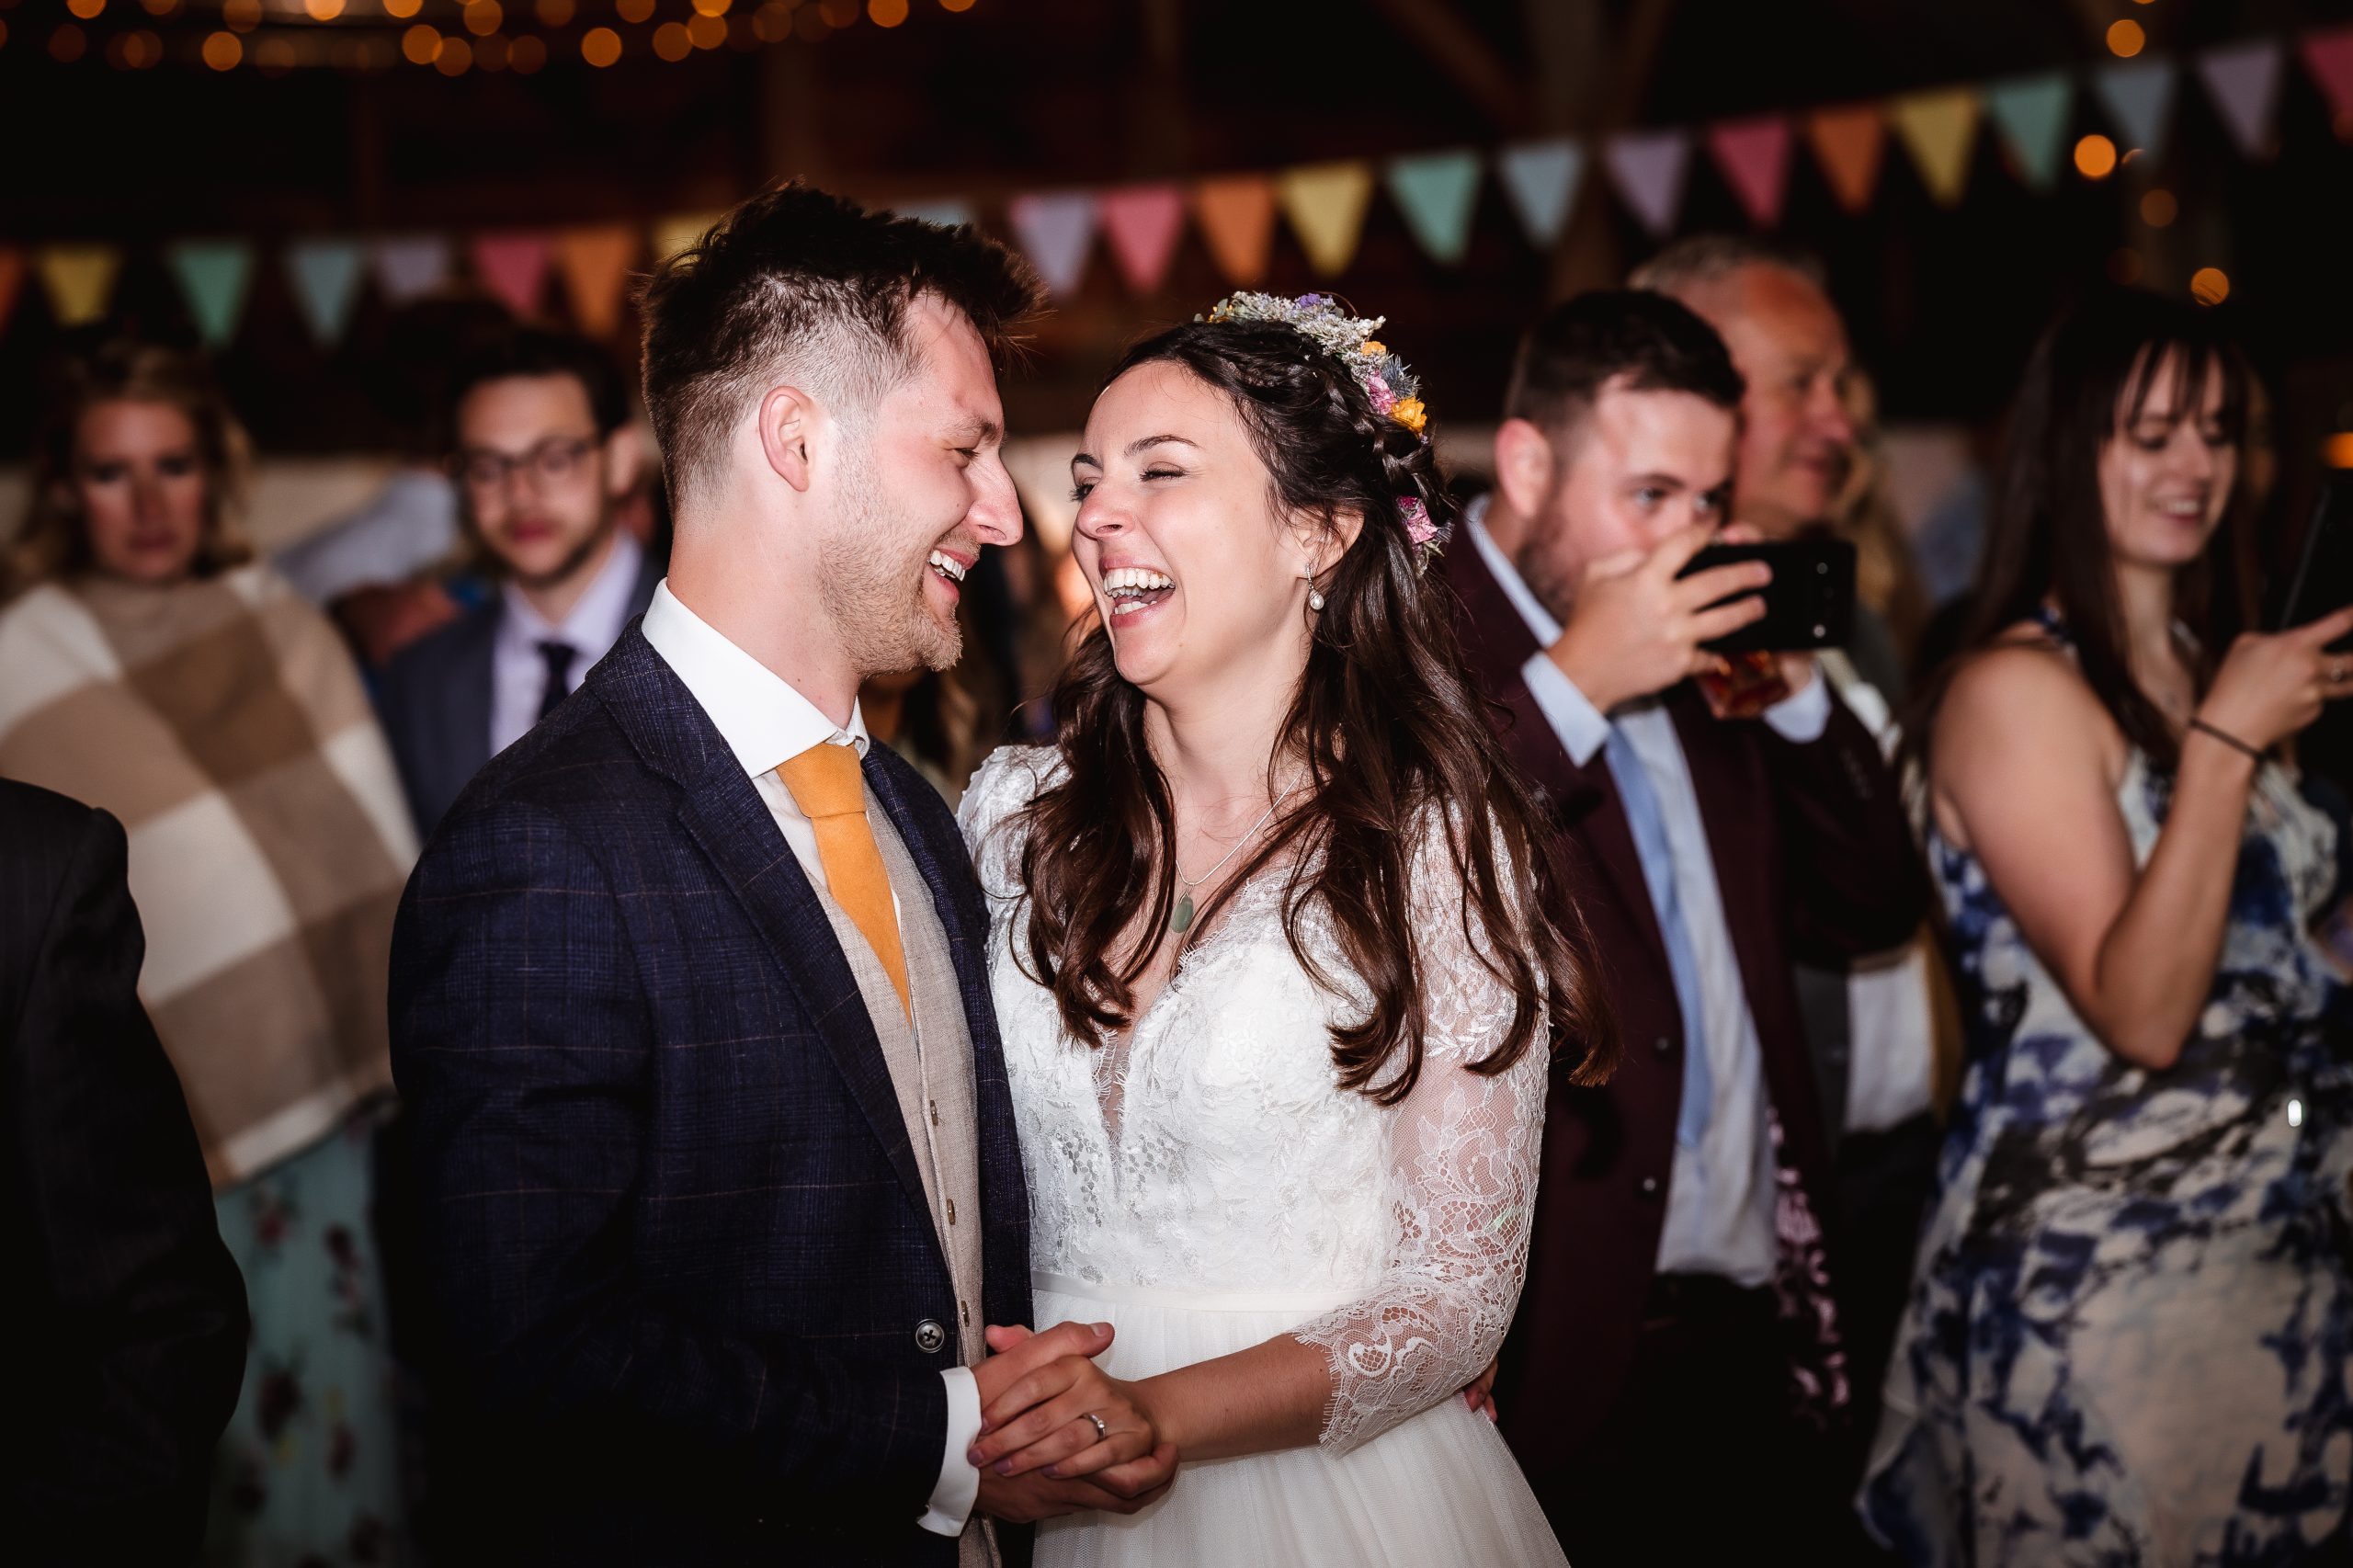
[[[962,805],[991,906],[1038,1326],[1113,1323],[1101,1361],[1122,1380],[1292,1333],[1329,1356],[1334,1394],[1315,1448],[1186,1464],[1134,1519],[1047,1521],[1040,1568],[1562,1563],[1504,1439],[1459,1396],[1520,1297],[1546,1052],[1466,1071],[1504,1038],[1511,994],[1473,951],[1435,829],[1414,888],[1426,1057],[1384,1109],[1337,1083],[1327,1029],[1365,991],[1315,911],[1311,954],[1344,994],[1299,965],[1282,876],[1235,895],[1120,1045],[1064,1031],[1012,949],[1028,921],[1012,817],[1056,770],[1052,749],[1007,746]]]

